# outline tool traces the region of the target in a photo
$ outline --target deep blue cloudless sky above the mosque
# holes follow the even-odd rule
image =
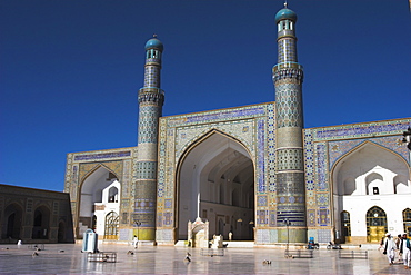
[[[163,115],[274,100],[282,0],[1,0],[0,183],[62,190],[66,154],[137,145],[144,43]],[[408,0],[289,0],[305,127],[411,116]]]

